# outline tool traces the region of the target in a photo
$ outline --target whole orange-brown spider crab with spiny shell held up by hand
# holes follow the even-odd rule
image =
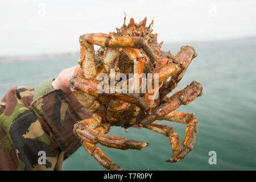
[[[167,94],[176,87],[197,54],[190,46],[181,47],[175,56],[170,51],[161,51],[163,42],[158,43],[158,34],[152,34],[153,20],[148,27],[146,20],[147,18],[144,18],[142,22],[135,23],[131,18],[128,25],[124,22],[121,28],[116,28],[117,32],[80,36],[81,52],[78,62],[84,71],[84,76],[73,77],[69,85],[77,100],[93,113],[93,117],[77,122],[73,131],[81,139],[86,152],[106,169],[123,170],[96,146],[97,143],[121,150],[141,150],[150,144],[107,135],[111,126],[121,126],[125,129],[140,126],[165,135],[170,139],[173,151],[171,158],[166,160],[170,163],[183,159],[195,144],[198,123],[195,115],[174,110],[201,96],[203,86],[199,82],[192,81],[190,85],[171,97],[167,97]],[[94,53],[94,45],[100,46],[97,53]],[[124,74],[158,73],[159,97],[150,100],[148,92],[144,94],[99,92],[97,77],[100,73],[111,75],[110,69]],[[141,80],[137,86],[141,87]],[[154,86],[152,85],[153,88]],[[179,135],[174,129],[157,123],[156,120],[187,125],[183,148],[180,147]]]

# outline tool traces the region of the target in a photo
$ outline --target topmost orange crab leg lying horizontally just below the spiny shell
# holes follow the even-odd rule
[[[101,47],[130,47],[143,49],[149,57],[151,63],[155,62],[155,53],[150,46],[147,45],[143,38],[133,36],[111,36],[109,34],[85,34],[82,35],[82,39],[86,40],[90,44],[96,44]]]

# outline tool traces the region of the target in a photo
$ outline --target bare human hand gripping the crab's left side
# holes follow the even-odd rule
[[[63,69],[57,76],[55,80],[52,81],[53,89],[60,89],[65,96],[67,96],[68,100],[74,106],[75,110],[81,117],[81,119],[92,118],[92,113],[85,107],[83,107],[79,101],[77,101],[75,95],[71,92],[71,89],[68,85],[68,81],[77,73],[84,75],[82,68],[79,65],[71,68]]]

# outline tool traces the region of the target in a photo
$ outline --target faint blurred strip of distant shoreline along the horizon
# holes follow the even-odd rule
[[[242,46],[248,44],[256,44],[256,37],[239,38],[239,39],[226,39],[226,40],[209,40],[209,41],[195,41],[195,42],[164,42],[163,51],[168,49],[176,49],[181,46],[192,46],[195,48],[204,47],[226,47],[226,46]],[[64,53],[42,53],[36,55],[18,55],[18,56],[0,56],[0,62],[10,61],[28,61],[28,60],[42,60],[42,59],[61,59],[67,57],[79,57],[80,52],[64,52]]]

